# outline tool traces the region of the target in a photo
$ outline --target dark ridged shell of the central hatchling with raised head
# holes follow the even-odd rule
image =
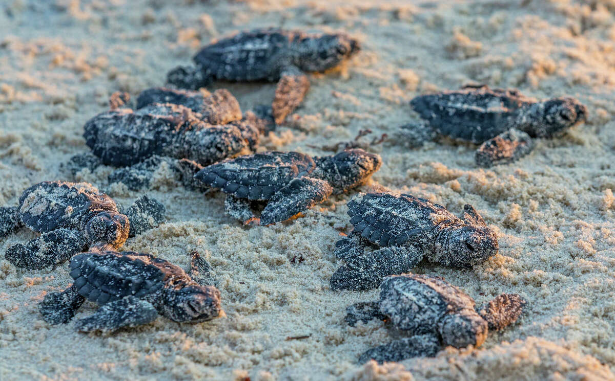
[[[291,180],[310,174],[314,167],[314,160],[303,153],[256,153],[205,167],[195,178],[237,198],[268,200]]]

